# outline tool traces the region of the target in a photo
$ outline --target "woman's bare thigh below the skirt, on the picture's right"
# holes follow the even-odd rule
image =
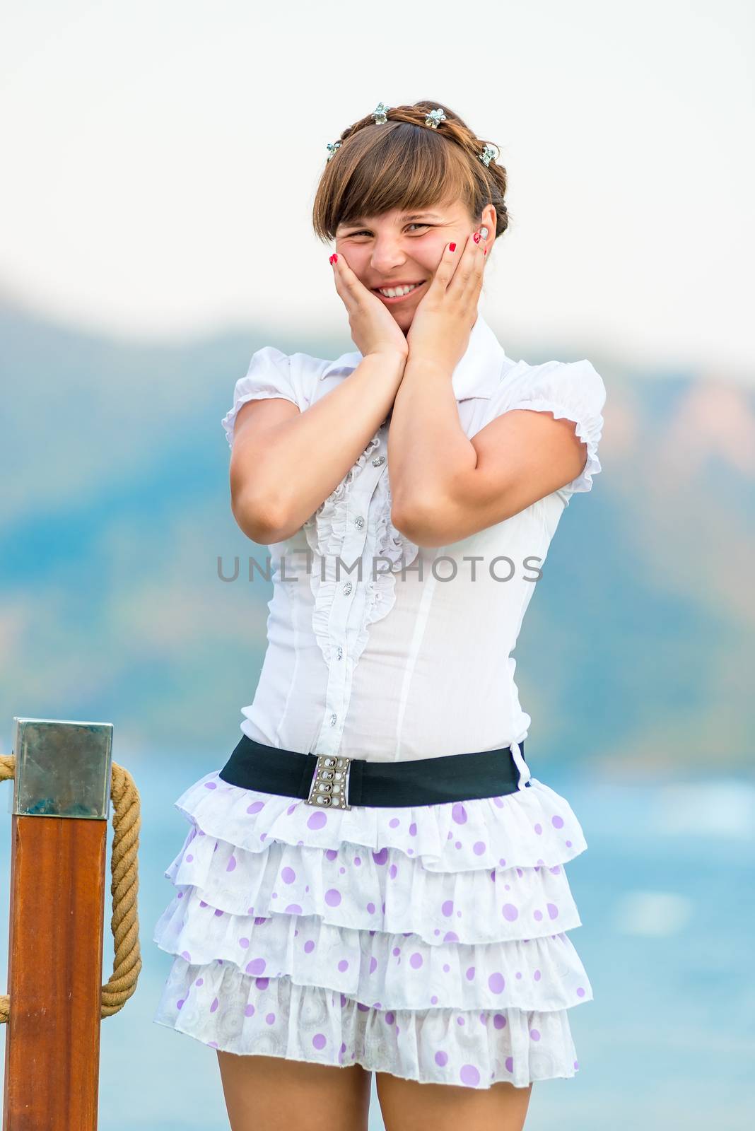
[[[385,1131],[521,1131],[532,1085],[500,1080],[489,1088],[419,1083],[375,1072]]]

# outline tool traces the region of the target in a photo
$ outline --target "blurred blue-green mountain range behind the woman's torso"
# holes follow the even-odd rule
[[[112,722],[116,759],[225,761],[271,586],[218,578],[218,558],[228,571],[267,552],[231,513],[220,418],[267,344],[352,348],[261,327],[134,344],[0,303],[0,749],[23,715]],[[755,391],[588,356],[608,390],[604,470],[561,520],[514,654],[528,757],[607,774],[749,767]]]

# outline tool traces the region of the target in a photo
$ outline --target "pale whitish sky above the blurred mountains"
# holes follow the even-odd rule
[[[326,145],[429,97],[507,170],[504,345],[755,382],[754,29],[748,0],[7,5],[0,297],[131,340],[348,339]]]

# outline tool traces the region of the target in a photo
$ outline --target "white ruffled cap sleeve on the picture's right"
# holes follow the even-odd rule
[[[584,468],[559,494],[569,501],[576,491],[592,490],[592,476],[600,472],[598,443],[602,433],[602,408],[606,404],[606,387],[591,362],[558,362],[544,365],[533,378],[523,382],[506,404],[506,412],[514,408],[530,408],[535,412],[553,413],[554,420],[567,417],[574,421],[576,434],[587,443],[588,458]]]

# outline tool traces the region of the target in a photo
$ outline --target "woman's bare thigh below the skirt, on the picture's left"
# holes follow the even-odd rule
[[[232,1131],[367,1131],[372,1072],[217,1051]]]

